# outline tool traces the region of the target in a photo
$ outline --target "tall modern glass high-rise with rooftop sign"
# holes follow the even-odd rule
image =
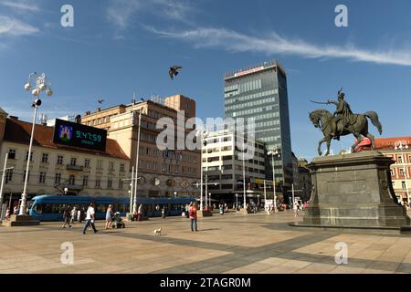
[[[287,76],[277,60],[229,72],[224,77],[225,116],[255,119],[255,138],[274,155],[275,179],[290,189],[293,182]],[[267,155],[266,173],[272,177],[272,160]],[[289,196],[290,193],[284,193]]]

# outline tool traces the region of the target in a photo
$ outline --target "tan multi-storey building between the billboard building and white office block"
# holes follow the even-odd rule
[[[182,120],[195,117],[195,100],[175,95],[162,100],[133,101],[95,112],[86,112],[81,123],[108,130],[108,137],[117,141],[121,149],[135,166],[139,113],[142,113],[138,196],[199,196],[197,183],[200,180],[200,151],[160,150],[157,136],[162,129],[156,129],[157,121],[169,118],[167,125],[181,130],[183,136],[174,136],[173,144],[184,141],[190,131],[177,123],[177,110],[184,110]],[[176,148],[176,147],[175,147]]]

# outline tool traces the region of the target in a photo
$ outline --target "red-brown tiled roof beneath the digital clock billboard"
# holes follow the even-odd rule
[[[30,143],[31,123],[22,120],[7,119],[5,122],[5,141],[12,141],[28,145]],[[47,127],[36,124],[33,146],[46,147],[51,149],[61,149],[64,151],[75,151],[83,153],[95,153],[102,156],[126,159],[129,157],[122,151],[119,143],[112,139],[107,139],[106,151],[92,151],[78,147],[58,145],[53,142],[54,127]]]

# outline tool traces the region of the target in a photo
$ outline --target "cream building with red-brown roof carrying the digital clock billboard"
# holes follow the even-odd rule
[[[23,192],[32,124],[6,118],[0,110],[0,164],[5,162],[4,199],[13,203]],[[54,127],[37,124],[30,160],[28,198],[37,194],[128,196],[130,162],[117,141],[108,139],[105,151],[91,151],[53,142]]]

